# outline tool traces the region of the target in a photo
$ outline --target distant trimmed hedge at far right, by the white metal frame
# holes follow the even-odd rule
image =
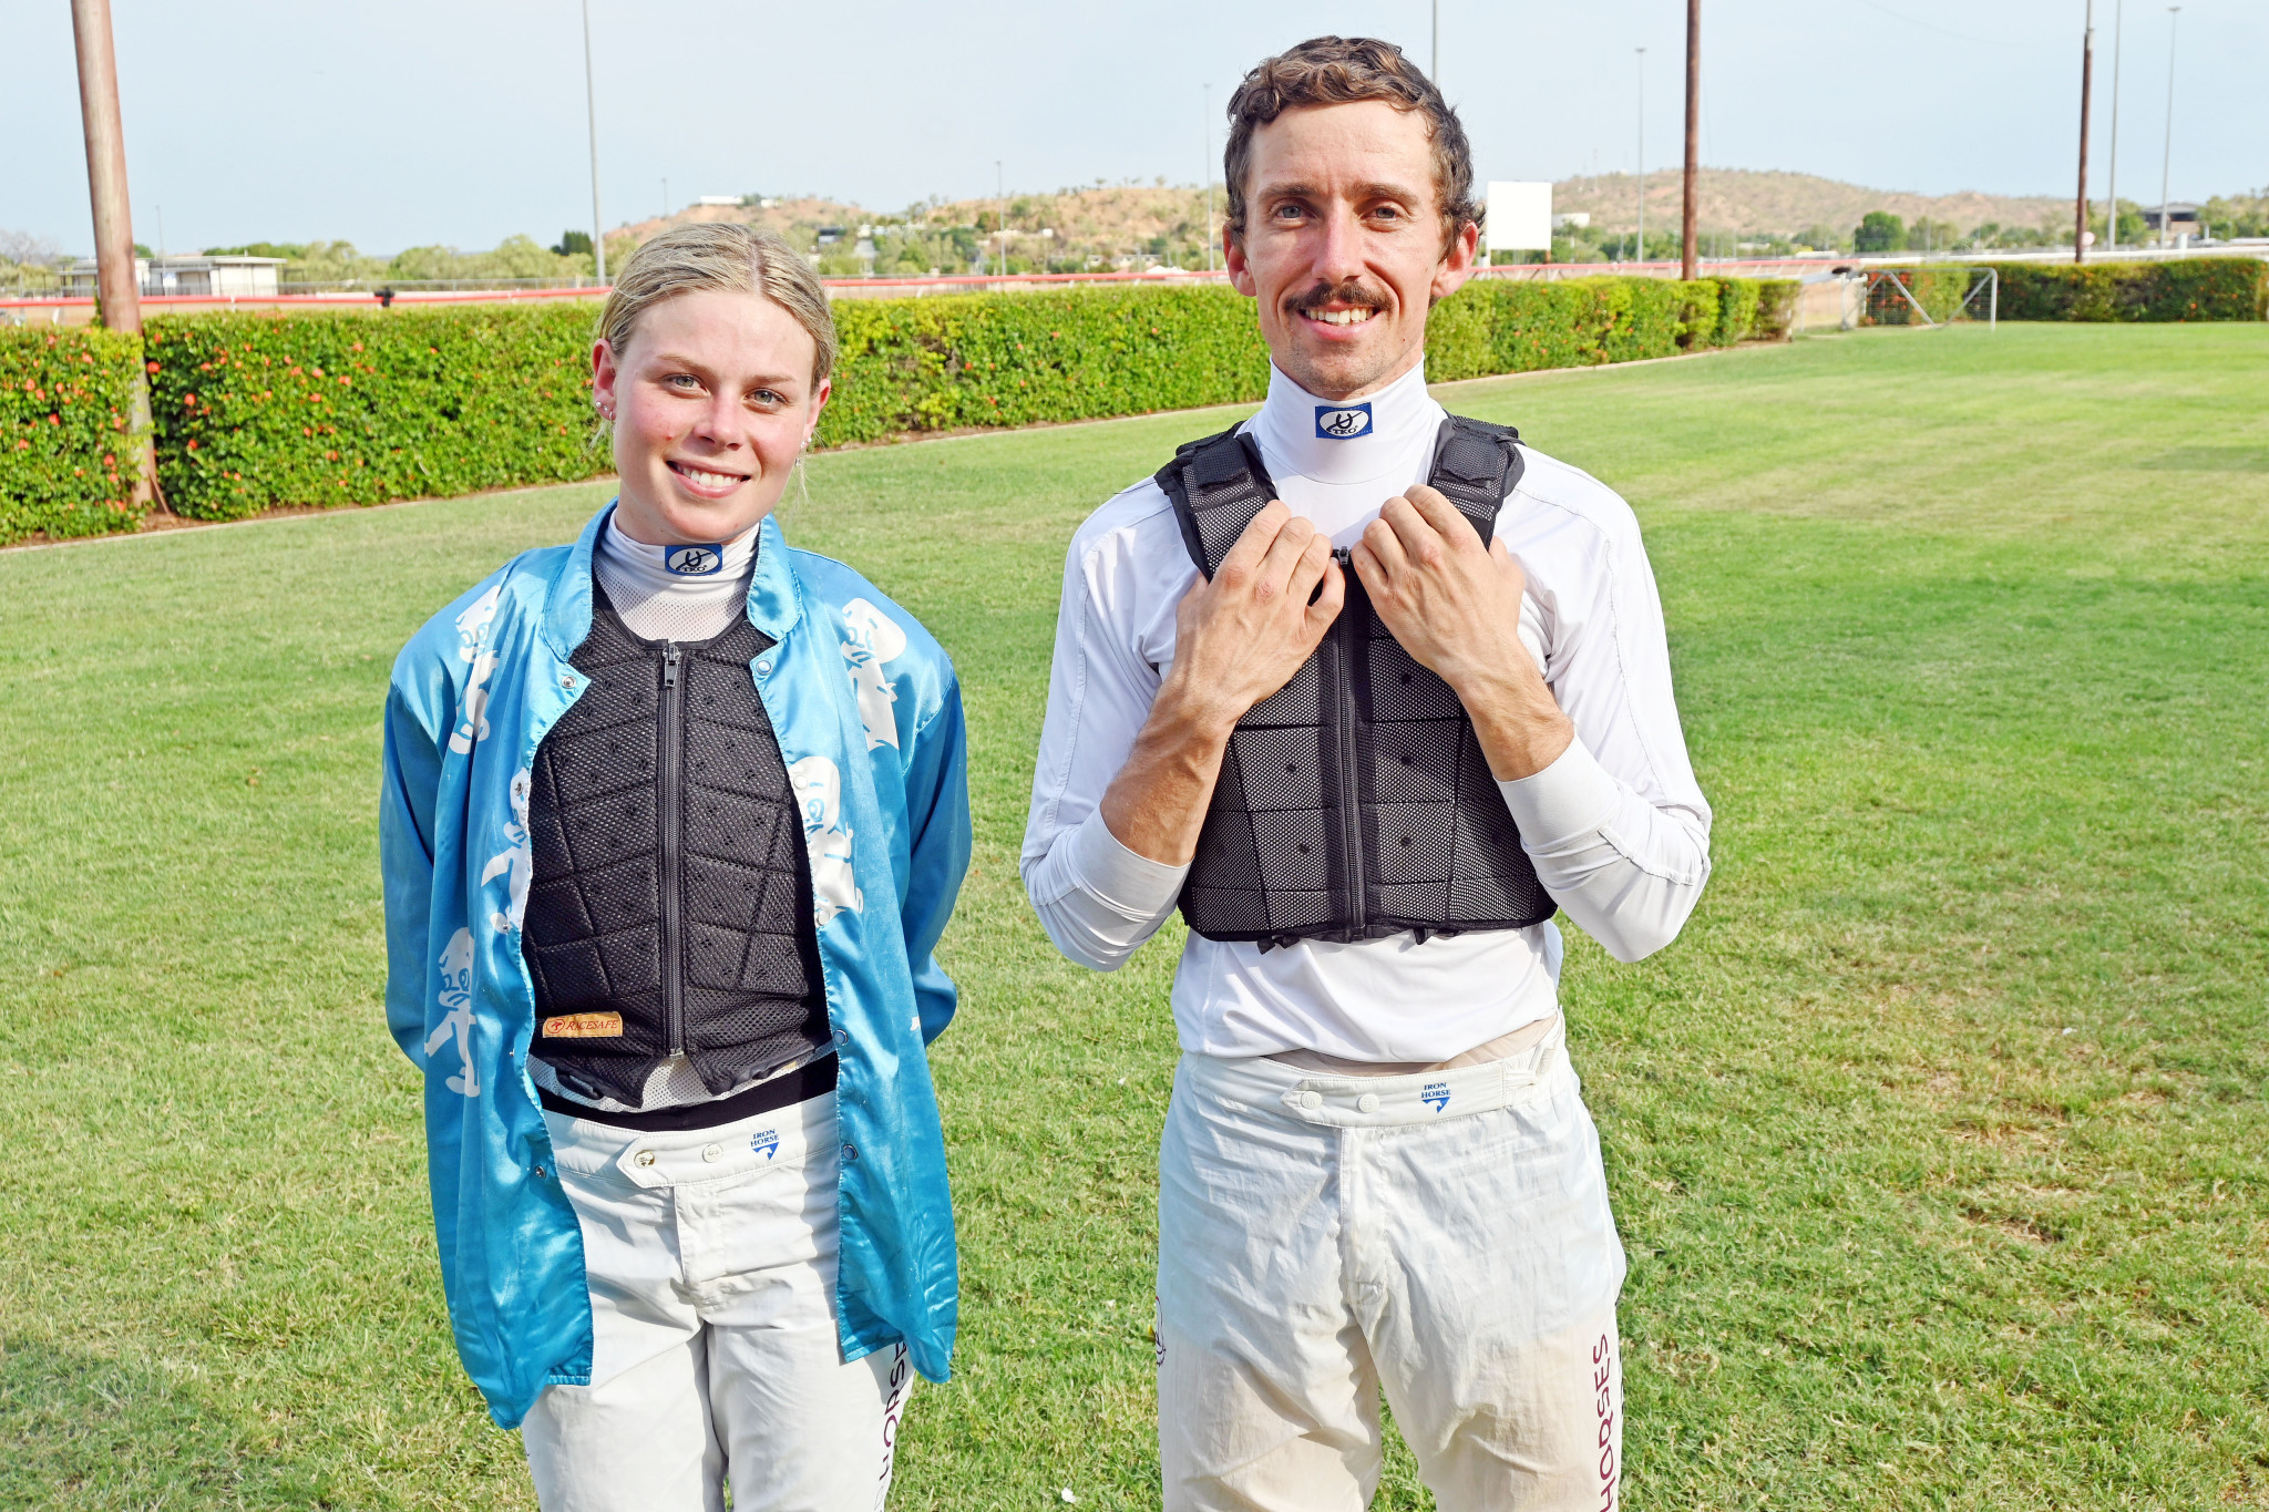
[[[2249,256],[2169,263],[1931,263],[1895,270],[1931,320],[1945,322],[1979,270],[2001,274],[2001,320],[2269,320],[2269,261]],[[1985,317],[1988,295],[1969,301]],[[1915,311],[1879,279],[1867,324],[1915,324]]]

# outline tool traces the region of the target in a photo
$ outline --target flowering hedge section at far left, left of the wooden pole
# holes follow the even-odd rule
[[[0,542],[132,530],[138,335],[0,331]]]

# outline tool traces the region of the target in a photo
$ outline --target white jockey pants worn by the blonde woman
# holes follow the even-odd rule
[[[583,1229],[592,1383],[522,1424],[545,1512],[874,1512],[912,1369],[835,1337],[835,1095],[717,1129],[545,1113]]]

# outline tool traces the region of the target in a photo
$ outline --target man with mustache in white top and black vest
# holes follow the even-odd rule
[[[1400,50],[1259,63],[1225,177],[1268,401],[1073,537],[1023,843],[1073,961],[1189,925],[1164,1501],[1368,1505],[1384,1390],[1445,1512],[1609,1510],[1625,1260],[1552,916],[1636,961],[1709,875],[1654,576],[1609,487],[1425,390],[1479,215]]]

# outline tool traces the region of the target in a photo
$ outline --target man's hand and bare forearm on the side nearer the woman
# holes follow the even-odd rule
[[[1173,669],[1103,793],[1103,823],[1121,846],[1169,866],[1198,855],[1230,730],[1291,682],[1346,596],[1332,537],[1282,503],[1255,515],[1214,578],[1182,594]]]

